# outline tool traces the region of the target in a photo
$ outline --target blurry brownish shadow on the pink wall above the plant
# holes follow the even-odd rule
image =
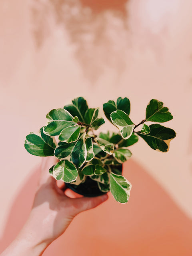
[[[31,0],[33,35],[40,48],[55,30],[67,33],[84,76],[95,82],[109,68],[124,70],[128,0]]]

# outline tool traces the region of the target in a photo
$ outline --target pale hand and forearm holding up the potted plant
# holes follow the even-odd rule
[[[49,168],[56,162],[54,157],[42,159],[40,180],[30,216],[20,234],[2,256],[42,255],[47,246],[64,233],[78,213],[107,200],[107,194],[93,198],[68,197],[65,187],[60,189],[57,181],[49,174]]]

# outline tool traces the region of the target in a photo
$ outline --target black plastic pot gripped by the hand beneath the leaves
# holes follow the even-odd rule
[[[111,168],[113,169],[113,166],[111,166]],[[120,172],[122,172],[122,165],[115,166],[115,169],[118,169]],[[66,187],[70,188],[77,194],[80,194],[86,197],[101,196],[106,194],[106,192],[100,191],[100,189],[98,188],[97,182],[95,180],[92,180],[89,176],[87,176],[84,183],[81,183],[79,185],[66,183]]]

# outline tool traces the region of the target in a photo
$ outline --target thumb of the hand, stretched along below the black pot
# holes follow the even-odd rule
[[[108,195],[104,194],[102,196],[97,197],[82,197],[82,198],[75,198],[74,204],[75,208],[77,209],[77,214],[86,210],[90,210],[95,208],[96,206],[102,204],[108,199]]]

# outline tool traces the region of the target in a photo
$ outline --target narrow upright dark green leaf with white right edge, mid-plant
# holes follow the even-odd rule
[[[83,135],[75,142],[71,152],[72,162],[77,168],[80,168],[87,158],[87,149]]]

